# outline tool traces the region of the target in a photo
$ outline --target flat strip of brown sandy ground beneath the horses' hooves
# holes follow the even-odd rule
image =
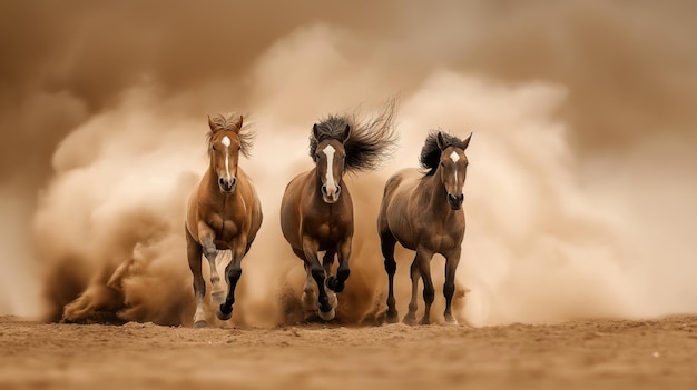
[[[697,316],[203,329],[0,317],[0,389],[697,389]]]

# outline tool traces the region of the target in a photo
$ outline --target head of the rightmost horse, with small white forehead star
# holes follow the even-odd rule
[[[462,188],[467,178],[468,158],[464,150],[470,144],[470,137],[464,141],[458,142],[458,139],[445,138],[442,132],[438,132],[436,143],[441,150],[439,171],[441,182],[445,187],[448,193],[448,203],[452,210],[460,210],[464,194]]]

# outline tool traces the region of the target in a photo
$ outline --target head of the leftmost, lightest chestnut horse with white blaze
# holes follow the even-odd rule
[[[218,187],[223,193],[234,193],[237,184],[237,162],[239,151],[244,147],[239,138],[243,118],[239,116],[230,121],[216,120],[208,117],[210,133],[208,134],[208,154],[210,170],[218,178]]]

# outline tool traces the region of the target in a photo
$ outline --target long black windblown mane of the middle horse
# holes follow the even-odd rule
[[[346,124],[351,127],[346,150],[345,169],[350,172],[377,169],[391,156],[397,136],[394,131],[395,99],[385,103],[382,112],[360,120],[356,112],[330,114],[317,123],[317,137],[310,136],[310,157],[315,160],[317,144],[325,139],[342,139]]]

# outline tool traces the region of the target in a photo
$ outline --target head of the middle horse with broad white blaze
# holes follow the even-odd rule
[[[317,167],[317,176],[322,182],[322,199],[326,203],[335,203],[341,193],[341,181],[344,176],[346,162],[346,149],[344,142],[351,134],[348,124],[343,128],[338,137],[323,136],[322,130],[315,123],[312,133],[316,142],[313,160]]]

